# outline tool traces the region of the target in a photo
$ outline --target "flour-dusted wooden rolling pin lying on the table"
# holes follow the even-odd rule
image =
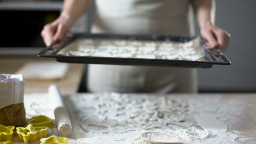
[[[59,133],[62,136],[67,136],[72,132],[72,125],[67,108],[62,101],[59,88],[56,85],[50,85],[48,92],[51,95],[53,102],[56,104],[54,116]]]

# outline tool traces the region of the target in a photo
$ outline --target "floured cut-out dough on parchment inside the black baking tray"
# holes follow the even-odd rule
[[[67,45],[67,56],[204,60],[199,38],[188,42],[79,39]]]

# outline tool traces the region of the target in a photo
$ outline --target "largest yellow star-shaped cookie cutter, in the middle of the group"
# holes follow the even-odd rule
[[[41,139],[47,136],[48,127],[45,126],[35,126],[29,124],[26,128],[17,127],[17,133],[19,135],[19,139],[24,141],[26,144],[29,141],[35,141],[36,139]]]

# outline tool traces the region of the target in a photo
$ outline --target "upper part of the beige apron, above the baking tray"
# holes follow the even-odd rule
[[[96,0],[92,32],[190,35],[189,0]]]

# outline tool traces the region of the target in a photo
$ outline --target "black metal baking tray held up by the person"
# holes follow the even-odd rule
[[[50,46],[44,48],[38,57],[55,58],[56,61],[66,63],[80,64],[117,64],[117,65],[140,65],[140,66],[159,66],[159,67],[187,67],[187,68],[211,68],[214,64],[230,65],[229,59],[217,48],[209,48],[200,38],[202,53],[205,61],[189,61],[189,60],[170,60],[170,59],[139,59],[139,58],[113,58],[113,57],[96,57],[96,56],[66,56],[58,54],[73,41],[80,38],[109,38],[123,40],[147,40],[147,41],[174,41],[186,42],[195,37],[176,37],[166,35],[116,35],[116,34],[73,34],[68,36],[66,40],[55,41]]]

